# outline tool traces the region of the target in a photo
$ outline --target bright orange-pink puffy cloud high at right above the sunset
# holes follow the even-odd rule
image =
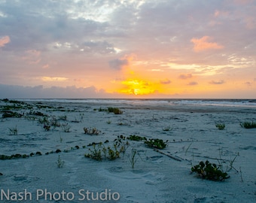
[[[203,36],[203,38],[192,38],[190,41],[194,43],[194,51],[200,52],[203,50],[216,50],[216,49],[222,49],[223,46],[220,44],[217,44],[216,42],[209,42],[210,37],[209,36]]]

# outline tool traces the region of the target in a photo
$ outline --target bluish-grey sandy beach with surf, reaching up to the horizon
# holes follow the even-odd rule
[[[254,104],[3,99],[0,202],[255,202]],[[207,160],[229,178],[191,173]]]

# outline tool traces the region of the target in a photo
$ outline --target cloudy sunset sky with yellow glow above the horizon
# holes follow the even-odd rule
[[[0,98],[256,98],[255,0],[0,0]]]

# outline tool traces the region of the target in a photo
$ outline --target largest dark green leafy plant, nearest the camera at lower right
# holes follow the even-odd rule
[[[200,177],[207,180],[225,180],[230,177],[226,172],[221,171],[219,168],[219,166],[212,164],[207,160],[206,163],[200,162],[199,165],[193,166],[191,171],[192,173],[196,172]]]

